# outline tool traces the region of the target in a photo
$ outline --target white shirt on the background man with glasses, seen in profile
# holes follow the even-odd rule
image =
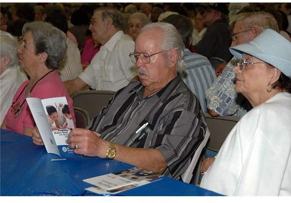
[[[129,53],[134,51],[134,41],[123,31],[115,33],[94,56],[90,66],[79,76],[82,81],[96,90],[118,89],[129,84],[137,75]]]

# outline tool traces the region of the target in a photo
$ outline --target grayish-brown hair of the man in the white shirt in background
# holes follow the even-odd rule
[[[102,20],[110,17],[112,19],[112,24],[116,29],[124,30],[123,18],[120,11],[111,7],[99,7],[95,10],[95,12],[97,11],[101,11]]]

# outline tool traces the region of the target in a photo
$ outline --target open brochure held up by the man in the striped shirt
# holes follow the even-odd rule
[[[81,157],[65,143],[70,131],[75,128],[66,98],[55,97],[43,100],[27,98],[26,100],[47,152],[65,158]]]

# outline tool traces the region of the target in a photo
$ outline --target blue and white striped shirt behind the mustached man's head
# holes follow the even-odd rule
[[[184,49],[184,60],[188,67],[182,70],[180,76],[200,101],[203,112],[207,113],[205,91],[216,79],[214,68],[208,58],[188,49]]]

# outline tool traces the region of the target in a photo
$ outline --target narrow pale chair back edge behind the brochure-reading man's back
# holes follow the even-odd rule
[[[200,154],[203,150],[203,148],[205,147],[208,139],[209,139],[209,135],[210,135],[210,132],[207,128],[206,130],[206,134],[205,134],[205,137],[202,141],[202,143],[199,145],[199,147],[197,148],[196,152],[194,153],[194,156],[191,160],[191,163],[190,163],[190,166],[188,167],[188,169],[181,175],[182,177],[182,181],[185,182],[185,183],[190,183],[191,179],[192,179],[192,176],[193,176],[193,171],[194,171],[194,168],[197,164],[197,161],[200,157]]]

